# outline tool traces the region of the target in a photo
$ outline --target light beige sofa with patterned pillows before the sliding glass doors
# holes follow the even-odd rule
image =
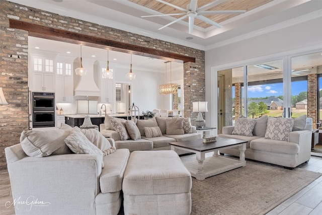
[[[294,168],[310,159],[312,124],[306,115],[298,118],[239,118],[235,126],[225,126],[219,136],[247,140],[248,159]],[[237,148],[221,154],[239,156]]]

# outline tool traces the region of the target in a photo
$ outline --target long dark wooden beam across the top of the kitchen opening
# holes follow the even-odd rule
[[[68,42],[78,45],[91,46],[95,48],[109,49],[113,51],[125,52],[134,55],[153,57],[157,59],[177,61],[177,62],[196,62],[195,57],[189,57],[181,54],[175,54],[167,51],[156,50],[137,46],[128,43],[122,43],[109,39],[79,34],[76,32],[65,31],[61,29],[50,28],[33,23],[27,23],[19,20],[9,19],[10,28],[16,28],[28,31],[29,36],[40,37],[60,42]]]

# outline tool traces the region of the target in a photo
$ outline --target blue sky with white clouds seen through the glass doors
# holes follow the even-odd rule
[[[307,81],[292,82],[291,92],[292,96],[297,96],[301,92],[307,92]],[[283,96],[283,83],[256,85],[248,87],[249,98],[269,96]]]

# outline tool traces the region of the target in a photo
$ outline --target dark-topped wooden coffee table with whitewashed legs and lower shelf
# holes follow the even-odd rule
[[[185,150],[196,153],[196,161],[184,163],[191,176],[199,181],[210,176],[218,175],[238,167],[245,167],[246,140],[216,137],[215,142],[203,144],[202,139],[170,142],[171,150]],[[219,149],[238,147],[239,160],[233,160],[218,155]],[[213,152],[213,156],[205,158],[205,154]]]

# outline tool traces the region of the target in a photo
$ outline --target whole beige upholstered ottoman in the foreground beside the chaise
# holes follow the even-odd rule
[[[124,214],[190,214],[191,185],[174,151],[134,151],[123,178]]]

